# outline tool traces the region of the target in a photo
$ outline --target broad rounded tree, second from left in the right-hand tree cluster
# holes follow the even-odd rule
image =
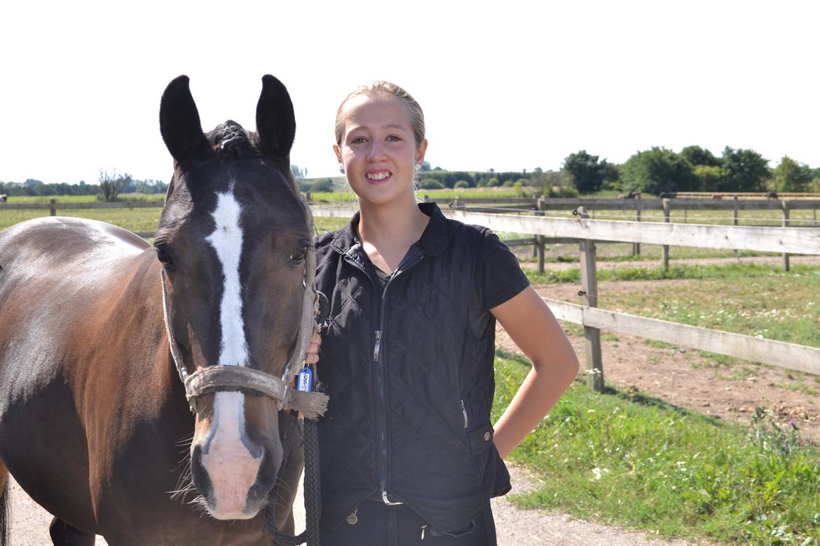
[[[698,178],[689,161],[664,147],[639,151],[623,165],[622,180],[641,192],[691,192],[698,189]]]

